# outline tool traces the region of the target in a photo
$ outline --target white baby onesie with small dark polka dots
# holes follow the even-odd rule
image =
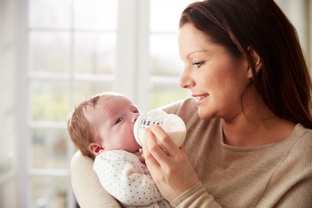
[[[146,165],[134,153],[105,151],[95,157],[93,170],[104,189],[125,207],[171,207],[146,172]]]

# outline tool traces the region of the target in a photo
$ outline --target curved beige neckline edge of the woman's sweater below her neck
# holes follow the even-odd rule
[[[287,142],[289,140],[292,140],[292,138],[300,138],[305,133],[305,131],[299,131],[299,129],[304,129],[305,127],[301,123],[297,123],[295,125],[294,130],[290,134],[290,136],[288,138],[284,139],[283,141],[269,143],[269,144],[265,144],[265,145],[261,145],[261,146],[236,147],[236,146],[231,146],[231,145],[227,145],[227,144],[224,143],[223,125],[222,125],[222,122],[220,122],[220,123],[221,123],[221,125],[220,125],[220,129],[219,129],[219,131],[220,131],[219,133],[221,135],[221,140],[220,140],[221,147],[224,148],[224,149],[233,151],[233,152],[253,152],[253,151],[259,151],[259,150],[267,149],[267,148],[273,147],[273,146],[275,146],[277,144],[285,143],[285,142]]]

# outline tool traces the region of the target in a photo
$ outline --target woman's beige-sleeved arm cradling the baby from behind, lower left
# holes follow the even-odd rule
[[[80,207],[121,207],[101,186],[93,171],[93,159],[78,151],[71,161],[71,183]]]

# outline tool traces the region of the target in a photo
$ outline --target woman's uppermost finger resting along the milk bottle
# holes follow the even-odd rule
[[[178,147],[176,143],[170,138],[168,133],[166,133],[163,128],[158,125],[150,126],[151,132],[158,138],[162,146],[167,150],[169,154],[176,154],[178,152]]]

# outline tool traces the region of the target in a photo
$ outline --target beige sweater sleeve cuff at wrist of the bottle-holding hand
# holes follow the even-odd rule
[[[221,207],[199,181],[190,189],[175,198],[171,203],[173,207]]]

